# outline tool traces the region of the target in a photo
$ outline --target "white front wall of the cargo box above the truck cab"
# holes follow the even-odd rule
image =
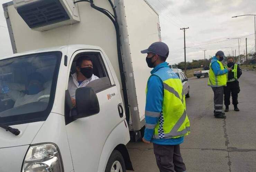
[[[94,3],[111,12],[113,11],[107,0],[94,0]],[[14,40],[11,41],[15,41],[17,52],[20,53],[67,44],[100,46],[108,55],[121,83],[117,60],[116,31],[113,23],[106,15],[91,8],[88,2],[78,3],[78,8],[81,22],[39,32],[31,30],[28,27],[13,5],[8,6],[8,20],[10,20],[14,37]]]

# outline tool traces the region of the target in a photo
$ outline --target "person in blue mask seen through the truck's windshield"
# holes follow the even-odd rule
[[[36,101],[44,101],[44,95],[49,95],[51,90],[51,83],[45,82],[45,78],[42,74],[35,72],[28,76],[26,85],[9,83],[7,93],[13,101],[15,101],[14,107],[25,105]],[[40,98],[41,97],[41,98]]]

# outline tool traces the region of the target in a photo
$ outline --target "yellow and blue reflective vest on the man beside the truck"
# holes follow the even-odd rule
[[[152,75],[158,76],[164,85],[163,109],[154,129],[153,139],[171,139],[188,135],[190,122],[180,78],[168,67],[160,68]]]

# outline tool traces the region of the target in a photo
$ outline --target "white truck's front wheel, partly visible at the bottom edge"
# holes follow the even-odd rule
[[[125,160],[118,150],[111,153],[105,172],[126,172]]]

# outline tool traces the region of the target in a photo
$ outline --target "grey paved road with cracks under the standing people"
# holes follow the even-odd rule
[[[239,79],[240,112],[226,113],[226,119],[213,117],[213,92],[208,78],[191,78],[186,99],[191,134],[181,146],[188,172],[256,171],[256,73],[243,72]],[[232,101],[231,101],[232,102]],[[129,143],[136,172],[157,172],[152,144]]]

